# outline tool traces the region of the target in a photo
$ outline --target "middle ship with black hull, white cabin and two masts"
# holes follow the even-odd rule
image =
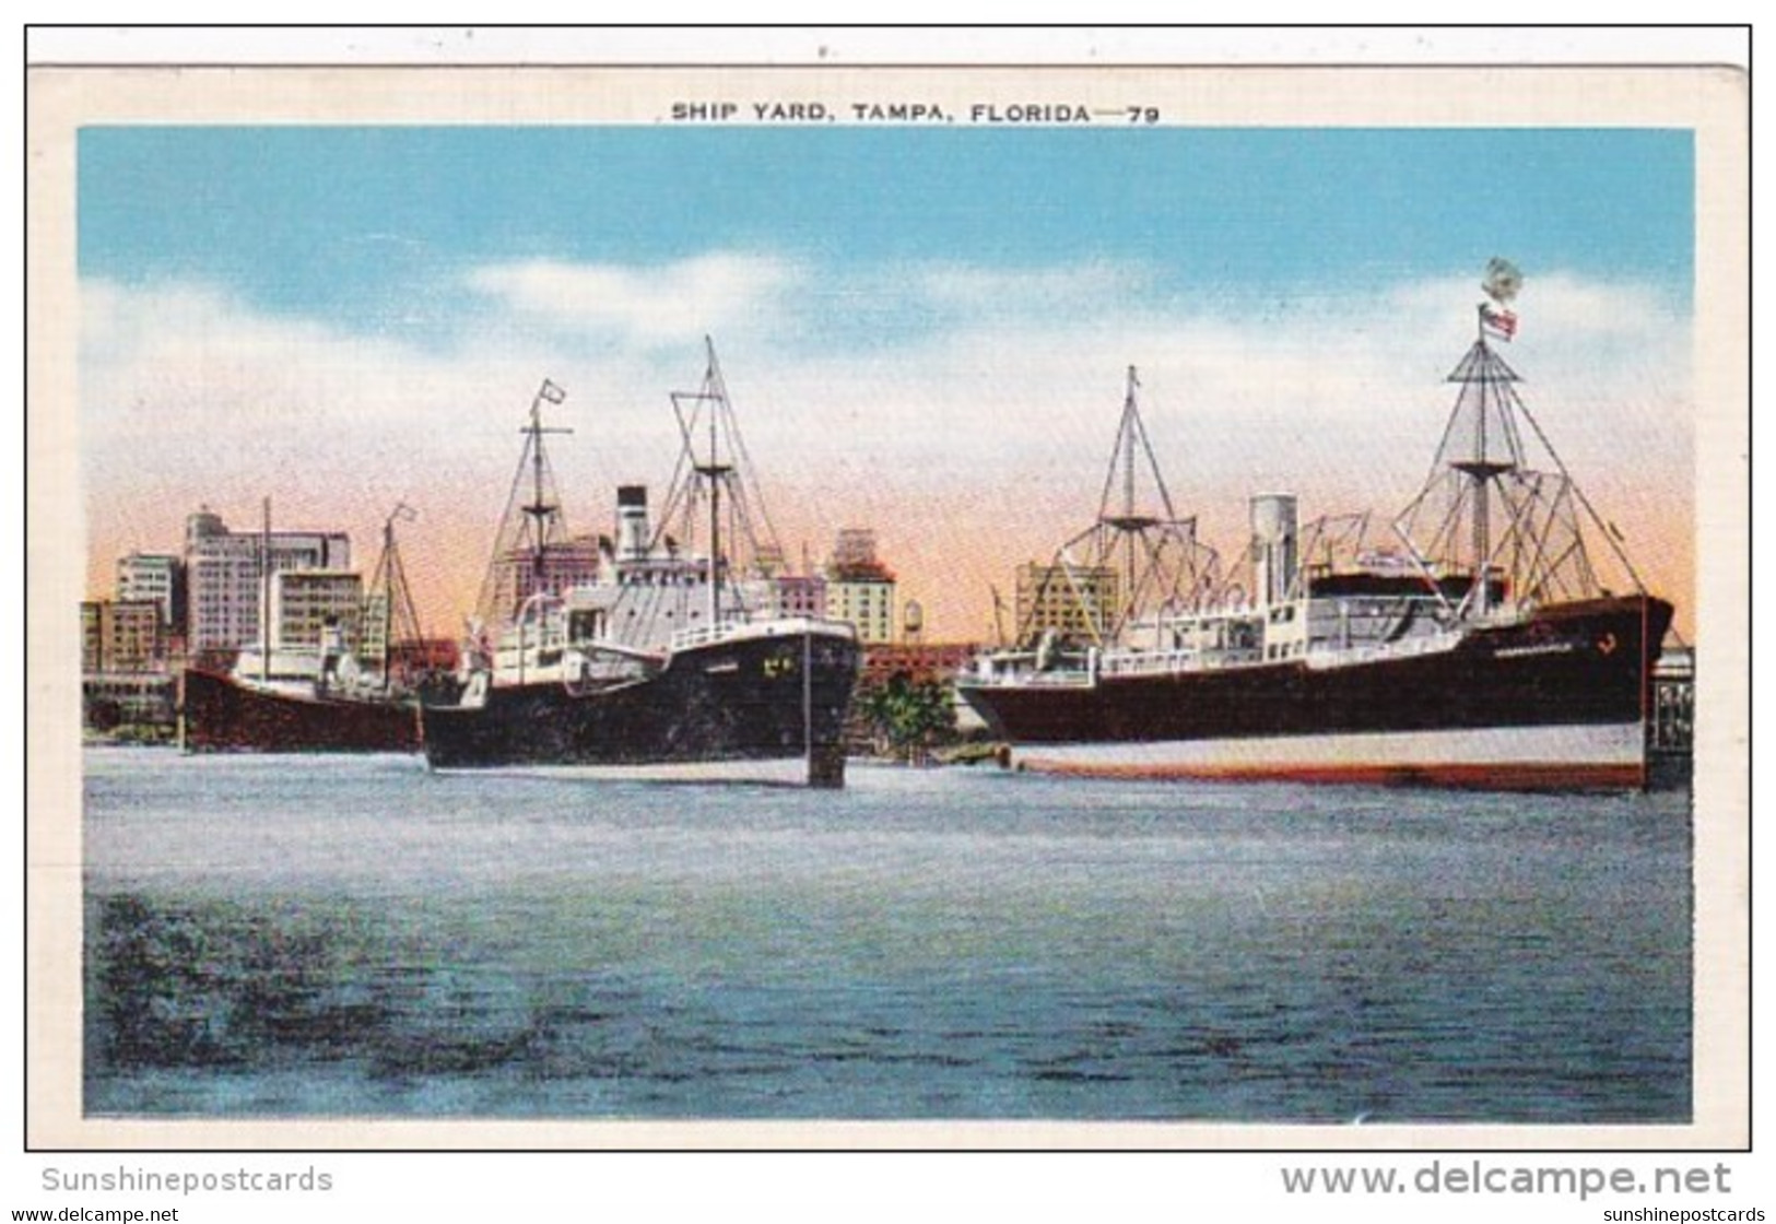
[[[673,396],[682,453],[659,529],[645,487],[620,489],[595,577],[552,561],[574,554],[542,451],[542,405],[559,401],[545,382],[531,405],[519,467],[527,501],[508,506],[515,526],[496,544],[508,577],[488,584],[480,613],[490,627],[474,634],[462,695],[423,709],[426,760],[842,785],[856,634],[774,613],[769,561],[781,549],[751,540],[769,521],[741,473],[714,348],[702,389]]]

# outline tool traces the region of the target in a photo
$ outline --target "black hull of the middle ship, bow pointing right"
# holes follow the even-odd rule
[[[483,698],[423,707],[426,762],[687,778],[767,776],[726,766],[789,762],[797,780],[842,785],[858,663],[849,634],[746,634],[677,650],[659,672],[609,688],[492,684]]]

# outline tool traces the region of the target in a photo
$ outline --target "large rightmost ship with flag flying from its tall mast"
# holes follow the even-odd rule
[[[1076,632],[1025,634],[959,680],[1027,769],[1154,778],[1637,789],[1653,666],[1673,608],[1648,593],[1517,394],[1515,270],[1449,375],[1424,489],[1384,547],[1368,515],[1300,524],[1250,501],[1250,592],[1172,513],[1133,371],[1094,528],[1053,583]],[[1542,457],[1533,460],[1531,439]],[[1138,444],[1138,446],[1137,446]],[[1137,455],[1160,490],[1133,503]],[[1542,464],[1545,458],[1549,462]],[[1117,480],[1121,476],[1121,480]],[[1112,505],[1112,490],[1124,503]],[[1598,581],[1607,542],[1632,590]],[[1078,556],[1083,554],[1083,556]]]

